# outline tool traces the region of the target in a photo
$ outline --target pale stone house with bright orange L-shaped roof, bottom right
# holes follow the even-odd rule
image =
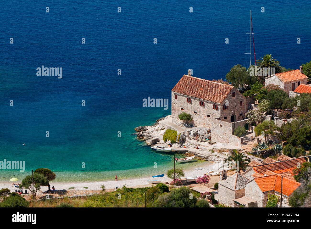
[[[267,175],[255,177],[245,185],[245,197],[253,199],[256,203],[246,207],[264,208],[267,204],[269,194],[281,196],[282,183],[282,200],[288,202],[290,195],[299,187],[300,183],[295,180],[288,179],[281,175]]]

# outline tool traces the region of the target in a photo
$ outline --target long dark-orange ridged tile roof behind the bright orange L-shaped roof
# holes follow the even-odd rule
[[[267,170],[275,172],[277,174],[283,172],[290,172],[291,175],[294,175],[293,170],[297,168],[298,163],[306,162],[306,160],[301,158],[294,158],[287,161],[278,161],[270,164],[264,164],[260,166],[253,166],[253,171],[259,174],[264,174]]]

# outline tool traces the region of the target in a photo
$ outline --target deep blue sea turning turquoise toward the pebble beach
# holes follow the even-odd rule
[[[165,173],[172,155],[132,133],[171,107],[146,108],[142,99],[170,101],[190,68],[212,80],[247,67],[250,9],[257,59],[272,54],[293,69],[311,60],[310,1],[1,1],[0,160],[25,161],[25,172],[67,171],[56,172],[59,181]],[[42,65],[62,67],[63,78],[37,76]],[[0,177],[25,176],[18,173]]]

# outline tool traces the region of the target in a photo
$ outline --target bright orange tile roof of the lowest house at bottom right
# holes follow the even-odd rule
[[[254,178],[254,181],[262,192],[275,191],[281,193],[281,176],[278,174]],[[282,194],[290,196],[300,183],[283,177]]]

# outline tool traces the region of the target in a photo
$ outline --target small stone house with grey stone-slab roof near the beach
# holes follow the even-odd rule
[[[245,185],[249,182],[239,172],[218,182],[218,202],[234,207],[234,199],[245,196]]]

